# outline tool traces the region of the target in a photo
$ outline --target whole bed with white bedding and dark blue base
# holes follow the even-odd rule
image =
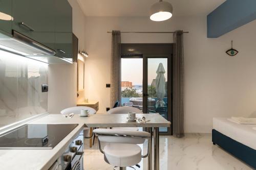
[[[256,169],[256,125],[240,125],[214,118],[212,142]]]

